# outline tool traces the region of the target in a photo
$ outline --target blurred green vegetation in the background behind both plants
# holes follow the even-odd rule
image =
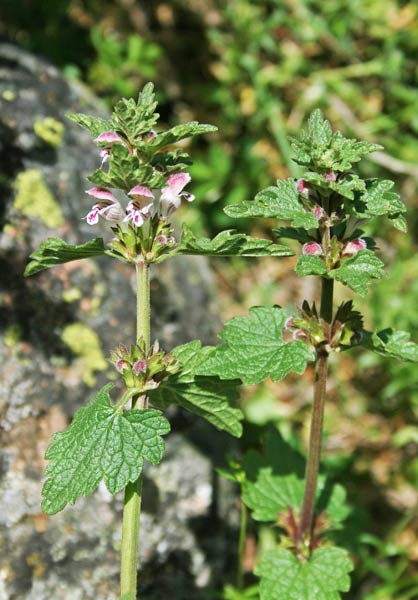
[[[381,143],[384,152],[365,161],[364,174],[396,181],[410,229],[404,235],[382,222],[370,232],[390,275],[361,308],[370,328],[393,325],[418,340],[416,2],[3,0],[0,35],[82,79],[109,105],[152,79],[165,122],[196,118],[219,127],[193,148],[197,200],[182,218],[195,232],[236,227],[223,206],[297,175],[287,136],[313,108],[344,134]],[[259,222],[238,227],[263,233]],[[263,302],[292,305],[306,287],[291,266],[214,262],[224,316]],[[244,446],[257,444],[273,422],[294,447],[305,447],[311,376],[245,392]],[[343,540],[357,566],[347,598],[417,598],[416,367],[366,353],[339,357],[326,448],[324,461],[355,507]],[[231,588],[225,597],[244,597],[234,594]]]

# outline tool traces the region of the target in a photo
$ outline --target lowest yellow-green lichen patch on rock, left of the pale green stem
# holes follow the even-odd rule
[[[62,339],[79,357],[84,383],[90,386],[94,385],[96,381],[94,372],[104,371],[108,366],[96,333],[87,325],[73,323],[64,328]]]

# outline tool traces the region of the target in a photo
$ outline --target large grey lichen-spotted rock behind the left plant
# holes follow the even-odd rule
[[[84,87],[51,65],[0,44],[0,598],[110,600],[117,597],[122,495],[105,487],[54,517],[40,510],[43,455],[53,432],[109,375],[106,358],[134,336],[132,269],[81,261],[24,279],[29,254],[48,236],[92,237],[86,174],[100,160],[66,112],[104,115]],[[177,258],[154,274],[153,333],[163,347],[213,337],[216,314],[205,260]],[[112,374],[110,373],[110,376]],[[219,515],[213,456],[225,436],[174,415],[167,454],[150,467],[141,521],[141,598],[203,598],[231,558],[231,502]],[[202,442],[202,443],[201,443]],[[212,446],[211,446],[212,444]],[[216,453],[209,452],[213,447]],[[211,550],[212,549],[212,550]]]

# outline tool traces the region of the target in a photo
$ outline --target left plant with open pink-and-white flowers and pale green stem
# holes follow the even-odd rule
[[[43,487],[42,509],[53,515],[91,494],[104,480],[112,494],[125,491],[122,524],[121,586],[124,600],[137,597],[139,517],[144,461],[159,463],[162,436],[170,430],[163,410],[178,405],[218,429],[239,437],[242,413],[233,406],[238,380],[200,374],[210,349],[199,341],[162,350],[151,340],[150,269],[177,254],[213,256],[288,256],[285,246],[254,239],[233,230],[215,239],[196,238],[183,228],[174,234],[172,217],[181,201],[191,202],[189,156],[173,146],[180,140],[216,131],[197,122],[158,130],[153,85],[148,83],[138,101],[120,100],[109,120],[72,114],[98,147],[99,168],[89,176],[86,219],[94,232],[108,228],[109,242],[95,237],[80,245],[48,238],[31,255],[25,274],[68,261],[105,255],[132,265],[137,281],[136,334],[111,351],[111,362],[124,392],[111,398],[113,384],[105,385],[80,409],[70,427],[55,434],[46,452],[49,464]],[[223,378],[224,379],[224,378]]]

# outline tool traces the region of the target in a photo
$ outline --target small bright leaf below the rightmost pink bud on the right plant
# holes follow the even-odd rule
[[[372,279],[385,277],[383,262],[371,250],[360,250],[355,256],[344,260],[338,269],[328,271],[332,277],[352,290],[365,296]]]

